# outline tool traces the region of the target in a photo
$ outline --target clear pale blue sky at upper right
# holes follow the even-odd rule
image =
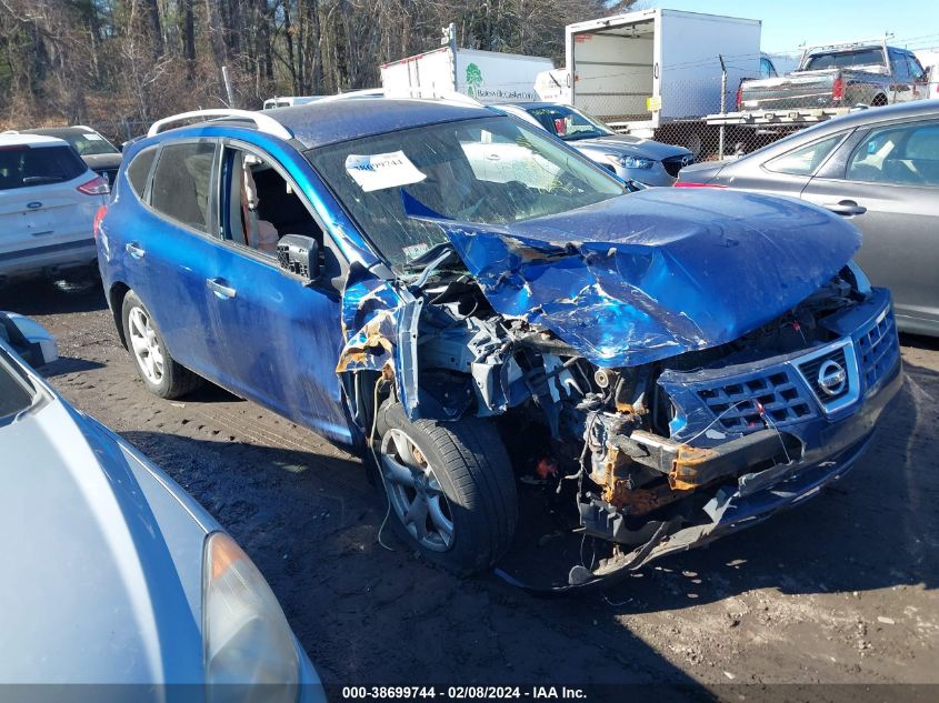
[[[870,39],[891,32],[892,44],[939,47],[939,12],[930,0],[639,0],[668,8],[762,20],[763,51],[798,51],[799,44]]]

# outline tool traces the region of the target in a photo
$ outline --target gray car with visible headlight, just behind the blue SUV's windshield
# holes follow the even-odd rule
[[[695,155],[685,147],[632,134],[618,134],[599,120],[570,106],[518,102],[496,107],[538,124],[626,181],[671,185],[678,171],[695,161]]]

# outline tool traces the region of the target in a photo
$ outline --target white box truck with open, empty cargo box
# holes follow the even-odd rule
[[[759,20],[657,8],[568,24],[569,101],[611,127],[655,137],[670,122],[732,109],[760,74]],[[542,82],[543,82],[542,77]]]

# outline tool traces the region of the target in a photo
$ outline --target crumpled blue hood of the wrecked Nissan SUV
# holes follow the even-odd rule
[[[730,342],[808,298],[861,243],[815,205],[697,189],[505,227],[439,223],[497,311],[606,368]]]

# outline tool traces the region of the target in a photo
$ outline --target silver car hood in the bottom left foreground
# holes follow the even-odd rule
[[[131,452],[51,394],[0,424],[0,682],[204,680],[214,526]]]

